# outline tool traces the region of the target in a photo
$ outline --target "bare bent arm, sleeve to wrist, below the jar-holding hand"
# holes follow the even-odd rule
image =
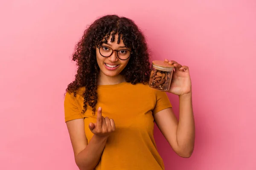
[[[177,121],[172,108],[154,114],[154,119],[163,136],[181,157],[189,158],[194,150],[195,122],[192,110],[192,95],[179,96],[180,119]]]

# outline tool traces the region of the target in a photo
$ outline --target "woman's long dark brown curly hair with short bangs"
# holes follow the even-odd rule
[[[95,115],[97,104],[97,80],[99,75],[99,65],[96,62],[96,45],[102,45],[107,42],[111,36],[111,42],[114,42],[115,35],[120,36],[126,47],[131,48],[131,58],[120,73],[124,75],[126,82],[146,84],[149,80],[150,63],[148,46],[143,33],[133,20],[117,15],[106,15],[95,20],[85,31],[81,40],[76,45],[73,53],[73,61],[78,66],[75,80],[71,82],[66,92],[73,93],[85,87],[83,92],[84,106],[82,113],[87,111],[87,105],[92,108]]]

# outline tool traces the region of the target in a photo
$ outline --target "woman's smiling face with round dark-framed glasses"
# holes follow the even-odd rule
[[[125,44],[123,43],[122,37],[120,37],[120,42],[117,44],[118,40],[118,34],[115,35],[115,41],[110,42],[111,36],[108,38],[108,43],[105,44],[103,43],[101,49],[96,48],[96,59],[97,63],[99,65],[100,71],[102,71],[103,74],[109,77],[115,77],[121,73],[121,71],[125,68],[125,66],[128,64],[129,59],[126,60],[121,60],[127,58],[128,54],[130,53],[127,50],[130,50],[130,48],[126,48]],[[118,52],[118,57],[117,57],[117,51],[113,51],[111,54],[111,49],[117,50]],[[103,57],[104,56],[109,56],[110,57]]]

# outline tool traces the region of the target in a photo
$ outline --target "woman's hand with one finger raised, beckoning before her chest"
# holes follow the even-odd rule
[[[102,108],[99,107],[97,113],[97,122],[90,123],[89,129],[94,135],[108,137],[113,131],[115,131],[116,125],[113,119],[109,119],[108,117],[104,118],[102,116]]]

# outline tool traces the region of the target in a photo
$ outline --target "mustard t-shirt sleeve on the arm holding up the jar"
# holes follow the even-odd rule
[[[156,94],[157,102],[154,107],[153,114],[155,114],[159,111],[162,111],[163,109],[166,109],[166,108],[172,108],[172,104],[171,104],[166,92],[159,91],[159,90],[155,90],[155,91],[156,91],[155,94]]]

